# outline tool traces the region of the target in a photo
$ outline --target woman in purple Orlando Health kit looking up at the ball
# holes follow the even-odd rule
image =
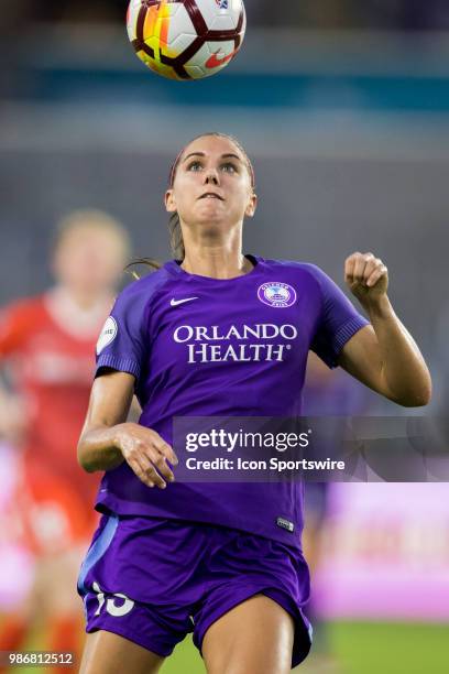
[[[317,267],[242,254],[256,196],[233,139],[190,142],[165,204],[177,260],[118,297],[78,444],[105,471],[81,673],[157,672],[193,631],[209,674],[284,674],[310,646],[300,485],[174,482],[173,417],[299,415],[309,349],[402,405],[426,404],[430,377],[373,254],[344,264],[371,324]]]

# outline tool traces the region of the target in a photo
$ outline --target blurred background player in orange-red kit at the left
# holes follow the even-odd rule
[[[43,648],[78,649],[83,616],[73,588],[96,524],[98,479],[79,469],[76,444],[95,344],[128,257],[118,221],[102,211],[74,211],[59,222],[54,242],[56,284],[0,314],[0,434],[20,448],[3,517],[7,510],[14,522],[9,536],[33,557],[29,591],[0,622],[0,650],[23,649],[37,621],[40,630],[45,624]]]

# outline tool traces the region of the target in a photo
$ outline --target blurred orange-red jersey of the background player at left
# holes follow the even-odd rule
[[[98,476],[78,466],[76,445],[92,383],[95,344],[109,307],[97,308],[98,322],[90,320],[86,334],[70,325],[69,312],[64,309],[65,325],[55,318],[52,303],[50,292],[2,309],[0,359],[8,361],[15,391],[26,403],[25,470],[66,478],[91,502]]]

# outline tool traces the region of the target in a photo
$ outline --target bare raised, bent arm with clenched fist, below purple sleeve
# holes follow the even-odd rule
[[[344,280],[371,325],[343,346],[339,365],[381,395],[407,407],[426,405],[431,379],[412,335],[386,294],[388,272],[372,253],[355,252],[344,263]]]

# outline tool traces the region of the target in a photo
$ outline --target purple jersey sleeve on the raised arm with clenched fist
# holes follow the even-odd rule
[[[338,285],[318,267],[309,265],[321,290],[321,316],[311,350],[329,368],[338,366],[338,357],[349,339],[369,325]]]

